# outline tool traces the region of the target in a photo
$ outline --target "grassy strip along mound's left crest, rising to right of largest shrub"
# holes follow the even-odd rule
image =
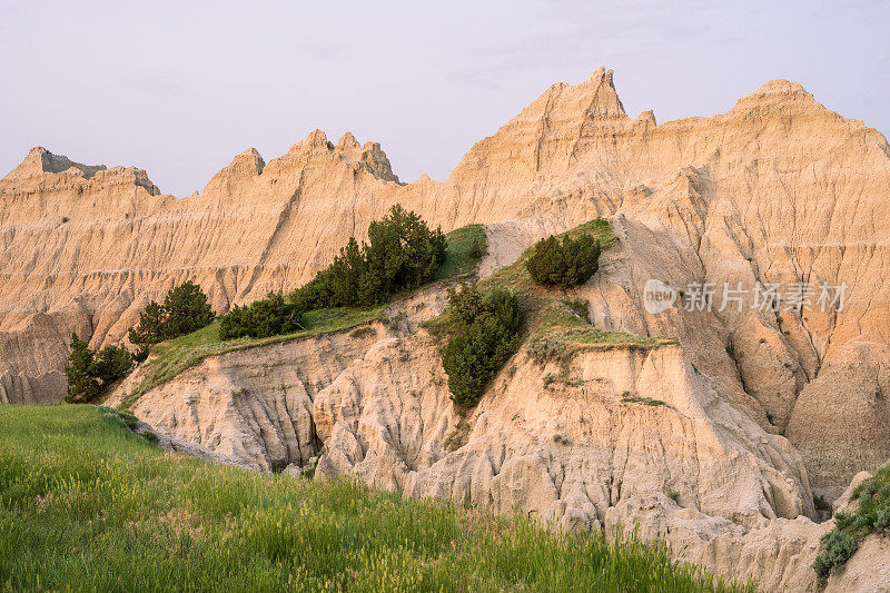
[[[448,233],[446,238],[448,239],[446,259],[436,274],[435,281],[464,279],[473,275],[478,259],[485,253],[485,227],[467,225]],[[394,300],[397,298],[399,296]],[[374,320],[385,320],[386,307],[387,305],[362,309],[313,310],[306,314],[306,329],[263,339],[244,337],[222,342],[219,339],[219,326],[212,324],[186,336],[158,344],[152,348],[157,356],[148,363],[150,366],[145,379],[122,398],[120,408],[129,409],[144,394],[198,365],[208,356],[340,332]]]

